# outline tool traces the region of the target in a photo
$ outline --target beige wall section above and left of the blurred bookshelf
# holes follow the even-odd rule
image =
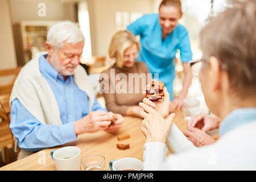
[[[1,0],[0,0],[1,1]],[[38,16],[39,3],[46,5],[46,16]],[[23,65],[23,53],[19,39],[18,23],[26,20],[71,20],[77,21],[75,2],[53,1],[53,0],[10,0],[11,17],[13,19],[13,31],[15,39],[15,51],[18,65]]]

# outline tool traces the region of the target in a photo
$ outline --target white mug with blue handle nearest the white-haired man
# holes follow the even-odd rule
[[[68,146],[51,151],[52,160],[57,171],[79,171],[81,150],[78,147]]]

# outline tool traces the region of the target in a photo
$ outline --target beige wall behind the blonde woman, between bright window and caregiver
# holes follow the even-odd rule
[[[115,12],[127,11],[142,14],[154,12],[154,0],[87,0],[92,38],[92,55],[108,53],[110,40],[115,33]]]

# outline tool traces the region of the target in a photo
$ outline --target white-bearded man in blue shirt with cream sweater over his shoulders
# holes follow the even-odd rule
[[[77,140],[100,130],[115,132],[113,113],[97,102],[80,63],[84,36],[72,22],[52,26],[47,54],[35,57],[20,71],[10,97],[10,129],[21,148],[18,159],[43,148]]]

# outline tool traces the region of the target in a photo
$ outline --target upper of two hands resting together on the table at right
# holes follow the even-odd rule
[[[197,127],[207,133],[210,130],[217,129],[220,126],[220,119],[210,117],[209,114],[201,113],[188,121],[188,129]]]

